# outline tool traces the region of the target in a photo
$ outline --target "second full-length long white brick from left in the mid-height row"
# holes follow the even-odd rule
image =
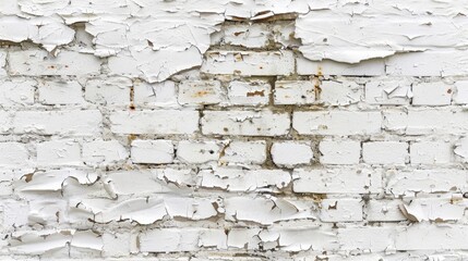
[[[110,129],[119,134],[193,134],[197,111],[118,111],[110,114]]]

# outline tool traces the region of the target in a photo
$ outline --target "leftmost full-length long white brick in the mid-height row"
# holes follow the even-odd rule
[[[103,116],[98,110],[20,111],[13,119],[13,133],[92,136],[100,133]]]

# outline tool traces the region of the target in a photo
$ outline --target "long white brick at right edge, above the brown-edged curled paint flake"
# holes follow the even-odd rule
[[[467,175],[460,170],[432,169],[387,171],[386,192],[393,195],[411,195],[411,192],[447,192],[466,190]]]

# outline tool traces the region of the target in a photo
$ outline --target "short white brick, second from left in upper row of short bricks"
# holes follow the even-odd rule
[[[77,82],[39,80],[39,102],[43,104],[84,103],[82,86]]]

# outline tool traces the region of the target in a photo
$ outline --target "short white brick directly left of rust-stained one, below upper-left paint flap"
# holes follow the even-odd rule
[[[136,105],[179,107],[176,83],[171,80],[155,84],[139,80],[135,82],[133,89]]]

